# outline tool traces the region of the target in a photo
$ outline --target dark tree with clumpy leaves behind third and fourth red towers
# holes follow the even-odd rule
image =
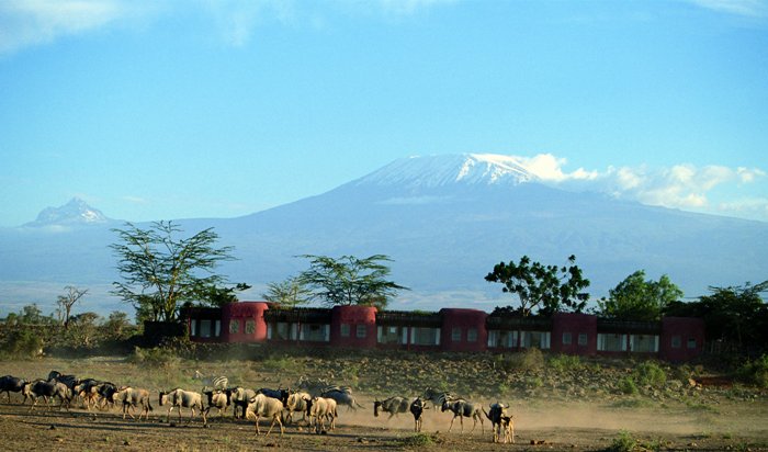
[[[568,257],[568,264],[563,267],[544,265],[523,256],[520,262],[500,262],[485,276],[488,282],[504,284],[501,292],[517,295],[519,312],[529,316],[534,307],[539,313],[551,315],[568,308],[580,313],[587,305],[589,294],[584,292],[589,286],[576,265],[576,257]],[[499,310],[513,310],[511,306]]]

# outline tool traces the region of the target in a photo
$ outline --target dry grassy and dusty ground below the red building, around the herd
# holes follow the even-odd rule
[[[0,373],[33,380],[52,370],[132,385],[151,392],[149,420],[123,420],[118,407],[88,411],[30,410],[19,394],[0,396],[0,450],[4,451],[768,451],[768,393],[742,385],[707,365],[668,364],[605,358],[551,355],[538,350],[493,353],[417,353],[328,349],[240,349],[214,351],[204,359],[179,358],[170,350],[137,350],[128,355],[38,358],[0,361]],[[341,407],[337,428],[310,431],[300,419],[269,436],[261,421],[234,419],[231,407],[208,414],[207,425],[188,422],[158,404],[161,389],[201,391],[195,371],[223,374],[250,388],[296,388],[302,377],[351,386],[364,408]],[[427,387],[482,403],[511,407],[515,443],[494,443],[490,422],[451,426],[452,414],[425,411],[421,432],[409,413],[392,419],[373,416],[375,399],[416,397]],[[484,431],[482,431],[484,430]]]

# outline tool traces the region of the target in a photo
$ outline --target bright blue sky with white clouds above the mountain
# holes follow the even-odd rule
[[[234,217],[402,157],[768,221],[768,2],[0,1],[0,226]]]

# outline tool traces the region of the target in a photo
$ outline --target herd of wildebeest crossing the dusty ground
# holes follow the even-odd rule
[[[328,384],[323,380],[312,381],[306,377],[298,380],[295,389],[278,388],[271,389],[262,387],[259,389],[246,388],[242,386],[230,386],[226,376],[204,375],[195,371],[192,380],[203,384],[200,392],[182,389],[180,387],[170,391],[160,391],[157,402],[161,407],[168,407],[166,422],[171,421],[171,414],[178,411],[179,421],[182,421],[182,408],[190,411],[188,423],[197,414],[207,426],[207,417],[212,409],[223,417],[228,407],[233,407],[235,419],[251,420],[256,425],[256,433],[261,434],[259,421],[270,422],[267,436],[279,426],[280,434],[283,436],[285,426],[293,422],[295,416],[301,415],[302,421],[308,425],[310,431],[327,433],[336,428],[336,419],[339,417],[339,408],[346,406],[347,410],[364,408],[360,405],[349,386],[338,386]],[[61,374],[52,371],[47,378],[25,381],[12,375],[0,377],[0,396],[8,394],[8,402],[11,402],[11,393],[19,393],[23,396],[22,404],[30,399],[32,411],[42,398],[48,409],[58,399],[59,410],[70,409],[72,403],[78,400],[81,407],[88,411],[120,408],[123,419],[134,416],[138,410],[138,420],[142,417],[149,419],[149,413],[154,410],[151,406],[151,393],[149,389],[117,386],[110,382],[94,378],[79,378],[75,375]],[[490,404],[488,411],[479,404],[456,397],[448,392],[427,388],[417,397],[393,396],[373,403],[373,415],[388,414],[388,419],[394,416],[410,413],[414,418],[414,431],[420,432],[423,421],[423,414],[427,409],[440,409],[453,414],[448,428],[450,432],[453,422],[459,418],[461,432],[464,431],[464,418],[473,420],[472,431],[481,423],[481,430],[485,433],[484,417],[492,423],[494,442],[515,442],[515,422],[509,413],[509,406],[495,403]]]

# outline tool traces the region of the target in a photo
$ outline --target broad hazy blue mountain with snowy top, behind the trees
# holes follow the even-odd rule
[[[576,255],[592,297],[640,269],[653,279],[669,274],[687,296],[768,275],[766,223],[557,190],[494,155],[400,159],[317,196],[179,223],[190,233],[214,227],[222,245],[235,246],[239,260],[221,271],[253,285],[249,300],[306,269],[301,255],[388,255],[393,279],[411,289],[394,308],[507,304],[509,295],[484,276],[523,255],[553,264]],[[0,230],[0,289],[14,281],[110,284],[117,276],[109,224]]]

